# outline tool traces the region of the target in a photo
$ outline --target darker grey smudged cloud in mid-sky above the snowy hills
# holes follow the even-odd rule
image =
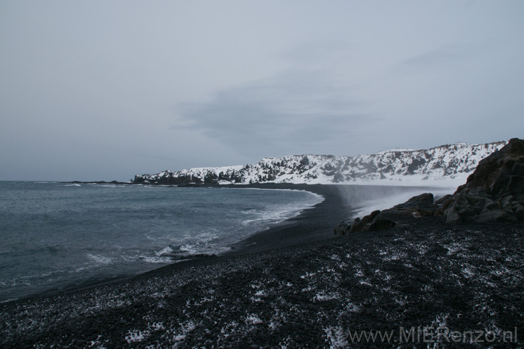
[[[207,103],[177,106],[173,128],[200,130],[234,147],[278,149],[294,144],[342,142],[341,128],[375,119],[362,110],[351,87],[339,86],[321,71],[288,71],[218,91]],[[242,150],[242,149],[240,149]]]

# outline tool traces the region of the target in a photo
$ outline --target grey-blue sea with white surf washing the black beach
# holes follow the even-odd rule
[[[224,253],[321,200],[307,191],[0,181],[0,302]]]

